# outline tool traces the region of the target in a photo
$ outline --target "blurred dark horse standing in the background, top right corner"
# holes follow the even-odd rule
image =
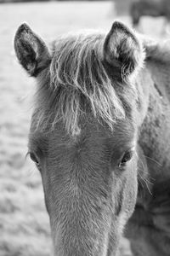
[[[165,17],[166,23],[170,21],[170,4],[168,0],[139,0],[133,1],[130,5],[130,15],[133,26],[139,26],[142,16]],[[167,24],[166,24],[167,25]]]

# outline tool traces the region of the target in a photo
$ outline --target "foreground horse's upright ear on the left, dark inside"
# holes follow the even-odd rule
[[[15,34],[14,49],[22,67],[33,77],[37,77],[51,61],[45,43],[26,24],[22,24]]]

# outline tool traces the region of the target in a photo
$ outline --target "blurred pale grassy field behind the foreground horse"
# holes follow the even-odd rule
[[[41,178],[26,158],[36,84],[16,61],[14,32],[26,21],[48,43],[77,29],[109,31],[113,20],[132,26],[131,4],[131,0],[0,0],[0,256],[52,255]],[[165,20],[144,16],[140,32],[168,38],[168,33],[162,33]],[[122,255],[130,255],[126,240],[122,240]]]

